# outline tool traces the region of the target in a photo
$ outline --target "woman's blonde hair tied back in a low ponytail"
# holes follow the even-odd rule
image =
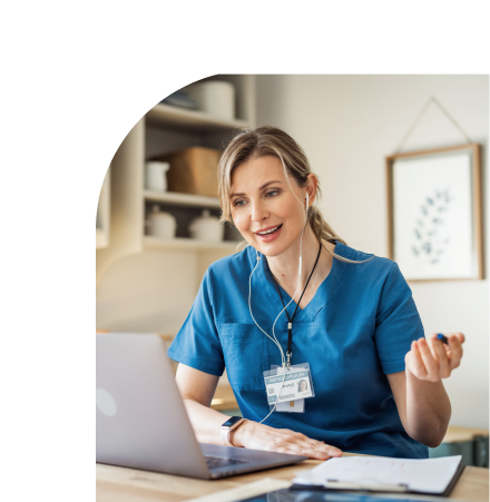
[[[218,164],[218,195],[222,206],[220,222],[232,223],[232,208],[229,193],[232,187],[232,173],[242,164],[252,158],[265,157],[273,155],[277,157],[284,169],[287,184],[291,187],[290,176],[294,179],[298,187],[307,184],[307,176],[312,173],[310,163],[301,146],[285,131],[277,127],[264,126],[256,129],[242,129],[227,145]],[[292,189],[293,194],[294,190]],[[310,207],[308,224],[320,242],[336,239],[346,245],[329,225],[316,205],[316,200],[321,197],[320,181],[316,188],[315,203]],[[297,197],[296,197],[297,198]],[[300,204],[303,204],[297,199]],[[325,248],[329,250],[327,248]],[[331,253],[329,250],[329,253]],[[343,262],[352,262],[347,258],[331,253]]]

